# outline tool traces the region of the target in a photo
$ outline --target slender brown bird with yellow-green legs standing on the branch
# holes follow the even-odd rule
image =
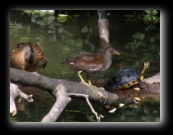
[[[61,62],[61,64],[68,64],[70,67],[76,69],[78,71],[78,76],[83,83],[86,82],[81,76],[81,73],[86,73],[88,78],[87,84],[93,86],[89,79],[89,74],[97,74],[108,70],[112,64],[112,57],[114,55],[120,54],[113,47],[108,46],[104,48],[102,53],[84,52]]]

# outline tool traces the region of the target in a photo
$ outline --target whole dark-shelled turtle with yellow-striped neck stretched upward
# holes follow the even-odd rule
[[[106,86],[113,91],[127,89],[136,84],[138,84],[140,88],[144,88],[141,80],[143,80],[143,74],[149,64],[149,62],[144,62],[139,70],[135,68],[123,68],[114,72],[108,79]]]

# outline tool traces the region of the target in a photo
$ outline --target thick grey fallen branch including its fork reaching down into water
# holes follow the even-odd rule
[[[70,98],[67,93],[76,93],[88,95],[91,100],[99,101],[105,106],[118,105],[119,103],[134,104],[133,98],[125,96],[117,96],[109,93],[104,88],[95,88],[85,83],[76,83],[63,79],[52,79],[38,73],[30,73],[18,69],[10,68],[10,81],[27,86],[38,87],[41,90],[46,90],[56,98],[56,102],[49,111],[49,113],[42,119],[42,122],[55,121],[61,114],[63,109],[69,103]],[[12,88],[10,87],[10,91]],[[15,97],[20,94],[10,93],[10,97],[14,101]],[[13,102],[14,103],[14,102]],[[10,104],[11,105],[11,104]],[[97,116],[100,119],[100,116]]]

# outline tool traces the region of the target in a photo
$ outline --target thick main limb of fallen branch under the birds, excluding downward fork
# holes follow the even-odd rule
[[[114,101],[119,100],[118,95],[112,94],[104,88],[95,88],[84,83],[76,83],[63,79],[52,79],[38,73],[25,72],[14,68],[10,68],[10,81],[22,85],[38,87],[50,93],[53,93],[57,86],[62,84],[66,88],[67,93],[86,94],[89,95],[90,99],[108,105],[114,104]],[[121,101],[127,104],[133,103],[123,98]]]

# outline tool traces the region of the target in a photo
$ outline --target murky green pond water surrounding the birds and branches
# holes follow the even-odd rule
[[[48,28],[41,28],[38,24],[31,23],[30,19],[25,16],[21,16],[19,13],[10,13],[10,50],[18,42],[23,41],[34,41],[38,43],[40,48],[44,51],[48,64],[43,71],[43,75],[52,78],[61,78],[71,81],[79,81],[77,73],[74,69],[71,69],[68,65],[60,64],[68,58],[79,54],[83,51],[100,51],[100,44],[98,40],[98,28],[97,28],[97,16],[91,17],[87,22],[82,22],[82,24],[89,23],[88,26],[92,28],[92,34],[82,34],[81,30],[84,30],[86,25],[81,25],[80,22],[73,24],[64,24],[63,33],[59,33],[59,28],[56,32],[50,31]],[[118,58],[119,66],[129,66],[138,68],[143,60],[147,59],[149,55],[147,53],[141,52],[139,56],[133,57],[129,50],[125,49],[125,43],[129,42],[128,34],[129,29],[125,31],[123,27],[128,28],[128,24],[121,24],[120,28],[122,31],[117,34],[120,28],[120,24],[111,24],[110,22],[110,41],[112,46],[120,52],[121,56]],[[132,35],[133,26],[131,29]],[[136,31],[136,30],[134,30]],[[115,38],[112,37],[115,36]],[[117,35],[117,37],[116,37]],[[120,37],[121,36],[121,37]],[[152,52],[151,52],[152,53]],[[131,57],[131,58],[130,58]],[[155,58],[152,60],[151,68],[146,71],[145,76],[151,76],[160,71],[160,59]],[[115,68],[110,69],[112,73]],[[104,80],[107,80],[109,74],[104,76]],[[94,80],[94,79],[95,80]],[[98,78],[92,77],[93,81],[98,81]],[[18,104],[18,113],[14,117],[10,117],[11,121],[40,121],[43,116],[51,108],[54,98],[50,96],[49,93],[43,92],[39,95],[40,90],[35,90],[35,88],[29,88],[27,92],[34,95],[34,103],[28,103],[23,101]],[[32,91],[33,90],[33,91]],[[17,100],[17,99],[16,99]],[[105,122],[148,122],[148,121],[160,121],[160,105],[159,104],[146,104],[137,109],[124,108],[119,109],[114,114],[109,114],[105,108],[99,107],[97,103],[93,103],[93,106],[98,112],[102,112],[104,115],[103,121]],[[151,108],[153,108],[151,110]],[[64,112],[61,114],[58,122],[85,122],[92,121],[93,114],[90,112],[88,105],[85,100],[73,99],[70,104],[66,107]]]

